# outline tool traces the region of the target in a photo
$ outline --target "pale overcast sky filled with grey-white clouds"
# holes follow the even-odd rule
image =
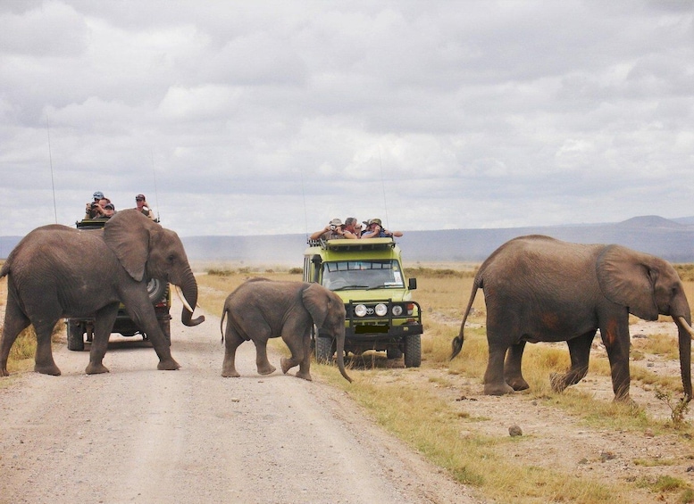
[[[0,2],[0,235],[694,215],[694,2]]]

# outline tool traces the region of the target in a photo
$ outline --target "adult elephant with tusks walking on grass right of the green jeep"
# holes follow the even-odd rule
[[[590,345],[600,330],[615,401],[629,397],[629,314],[673,318],[681,379],[691,400],[691,313],[680,277],[667,261],[620,245],[569,244],[542,235],[515,238],[485,260],[474,278],[451,359],[463,346],[465,320],[478,289],[487,305],[489,362],[484,393],[528,388],[521,372],[525,343],[565,341],[571,368],[551,376],[556,392],[588,372]]]

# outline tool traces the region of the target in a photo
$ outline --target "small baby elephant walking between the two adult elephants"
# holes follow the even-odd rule
[[[338,348],[339,372],[345,371],[345,305],[336,293],[322,285],[305,282],[278,282],[251,278],[229,294],[224,302],[220,331],[224,347],[222,376],[238,377],[236,349],[244,341],[255,343],[255,365],[261,375],[275,368],[267,359],[267,341],[282,337],[291,358],[282,357],[282,372],[299,366],[297,376],[311,380],[311,329],[315,325],[332,335]],[[229,318],[227,318],[229,316]],[[224,331],[224,318],[227,318]]]

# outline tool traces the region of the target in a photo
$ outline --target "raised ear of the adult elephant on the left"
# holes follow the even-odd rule
[[[122,267],[138,282],[145,277],[152,227],[158,226],[136,209],[117,212],[106,222],[104,241]]]

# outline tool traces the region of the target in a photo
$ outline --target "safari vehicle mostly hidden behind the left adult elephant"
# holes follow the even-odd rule
[[[106,222],[106,219],[84,219],[78,221],[76,226],[78,229],[96,230],[103,228]],[[169,284],[153,278],[147,284],[147,293],[155,306],[156,318],[159,320],[159,326],[162,328],[163,335],[166,341],[171,344],[171,315],[169,314],[171,310],[171,289]],[[83,351],[85,339],[91,343],[94,337],[94,318],[67,318],[66,323],[68,350]],[[122,304],[118,309],[118,316],[113,323],[111,333],[123,336],[142,335],[143,340],[147,339],[147,335],[128,316]]]

